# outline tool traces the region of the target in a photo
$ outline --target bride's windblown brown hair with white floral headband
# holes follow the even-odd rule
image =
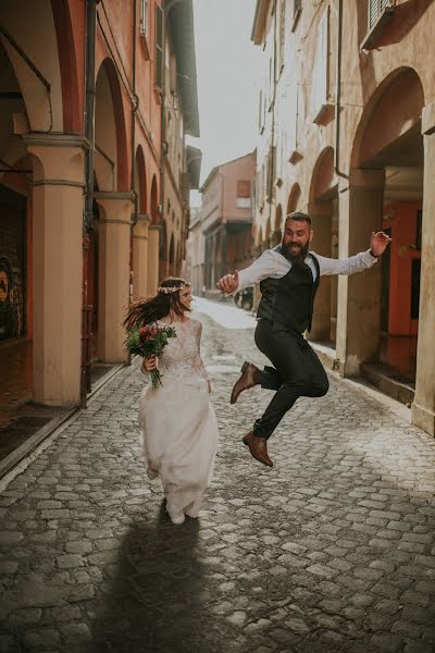
[[[130,305],[127,317],[124,320],[124,328],[128,331],[135,324],[142,326],[150,324],[156,320],[161,320],[171,311],[177,316],[190,310],[179,301],[179,291],[189,287],[190,284],[184,279],[177,276],[167,276],[160,283],[157,295],[148,299],[138,299]]]

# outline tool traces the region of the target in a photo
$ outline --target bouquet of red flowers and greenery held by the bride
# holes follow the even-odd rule
[[[151,358],[161,356],[170,337],[176,337],[173,326],[158,326],[157,324],[135,325],[127,332],[126,348],[132,355]],[[162,385],[162,374],[156,368],[151,370],[151,383],[156,390]]]

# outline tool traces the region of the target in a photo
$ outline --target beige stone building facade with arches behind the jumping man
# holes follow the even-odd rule
[[[422,202],[426,236],[413,419],[433,433],[435,386],[423,352],[433,349],[435,333],[427,310],[435,264],[435,5],[394,4],[369,44],[365,0],[302,2],[296,21],[293,0],[258,0],[252,40],[263,50],[263,70],[253,236],[259,254],[278,236],[283,215],[308,210],[313,248],[343,258],[369,246],[371,231],[382,229],[385,202]],[[313,335],[331,338],[340,373],[359,373],[363,361],[377,360],[382,274],[381,262],[364,275],[322,282]]]

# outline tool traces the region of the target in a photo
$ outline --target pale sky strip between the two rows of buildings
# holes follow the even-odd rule
[[[251,41],[256,0],[194,0],[201,183],[214,165],[256,147],[261,49]],[[201,197],[192,193],[192,206]]]

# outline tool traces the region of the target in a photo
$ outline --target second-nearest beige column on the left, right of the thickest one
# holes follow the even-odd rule
[[[125,362],[125,332],[122,323],[129,304],[130,193],[96,193],[99,218],[98,269],[98,358]]]

